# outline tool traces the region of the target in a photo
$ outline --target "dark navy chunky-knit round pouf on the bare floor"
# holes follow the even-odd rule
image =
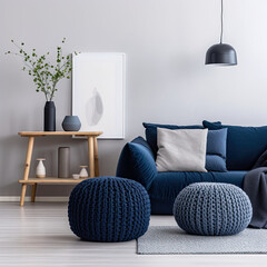
[[[134,180],[91,178],[71,191],[68,214],[71,230],[81,239],[127,241],[147,231],[150,201],[147,190]]]

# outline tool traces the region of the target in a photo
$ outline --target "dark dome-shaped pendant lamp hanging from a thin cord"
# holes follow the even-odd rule
[[[224,31],[224,3],[221,2],[220,10],[220,42],[210,47],[206,53],[206,65],[216,66],[234,66],[237,65],[236,50],[227,44],[222,43],[222,31]]]

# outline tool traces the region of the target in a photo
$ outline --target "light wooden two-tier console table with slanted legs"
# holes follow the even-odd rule
[[[89,150],[89,178],[99,176],[99,166],[98,166],[98,146],[97,146],[97,137],[100,136],[101,131],[21,131],[19,135],[21,137],[28,137],[28,149],[26,156],[26,165],[24,165],[24,175],[23,179],[19,180],[22,184],[21,188],[21,197],[20,197],[20,206],[24,205],[24,196],[27,186],[31,186],[31,202],[36,200],[36,190],[37,184],[79,184],[83,179],[75,180],[73,178],[57,178],[57,177],[48,177],[48,178],[29,178],[30,174],[30,164],[31,156],[33,150],[33,144],[36,137],[46,137],[46,136],[76,136],[76,137],[86,137],[88,139],[88,150]]]

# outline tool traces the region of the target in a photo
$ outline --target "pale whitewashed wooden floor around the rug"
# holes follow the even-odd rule
[[[69,229],[67,204],[0,202],[0,266],[267,266],[266,255],[136,254],[136,241],[79,240]],[[175,225],[171,216],[152,216],[150,225]],[[267,244],[266,244],[267,246]]]

